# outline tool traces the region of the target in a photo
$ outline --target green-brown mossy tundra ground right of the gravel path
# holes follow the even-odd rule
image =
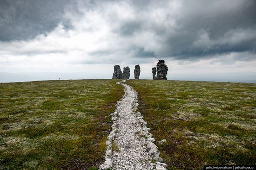
[[[172,170],[256,164],[256,84],[129,80]],[[160,142],[166,139],[166,142]]]

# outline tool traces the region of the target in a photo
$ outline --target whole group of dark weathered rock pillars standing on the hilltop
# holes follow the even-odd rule
[[[164,60],[159,60],[158,63],[156,64],[156,67],[152,68],[153,80],[167,80],[166,78],[167,71],[168,71],[168,67],[164,63]],[[135,65],[134,78],[140,79],[140,75],[141,75],[141,67],[138,64],[138,65]],[[124,67],[122,72],[119,65],[114,66],[114,73],[113,73],[112,79],[129,79],[129,78],[130,78],[129,67]]]

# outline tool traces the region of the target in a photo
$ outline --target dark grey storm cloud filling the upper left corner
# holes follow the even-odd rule
[[[0,40],[26,40],[70,21],[65,10],[77,11],[73,0],[0,0]]]

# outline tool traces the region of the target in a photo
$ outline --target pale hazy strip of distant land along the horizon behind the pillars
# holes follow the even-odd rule
[[[0,82],[34,82],[34,81],[51,81],[51,80],[97,80],[97,79],[112,79],[112,75],[109,76],[86,76],[87,72],[23,72],[23,73],[8,73],[0,72]],[[234,75],[234,74],[233,74]],[[249,76],[254,76],[255,73],[251,73]],[[217,77],[216,75],[211,75],[211,78],[207,78],[207,75],[197,75],[194,77],[189,77],[190,75],[183,77],[180,75],[168,74],[168,80],[174,81],[199,81],[199,82],[241,82],[241,83],[256,83],[255,79],[246,79],[243,75],[238,75],[237,77],[231,77],[230,74],[226,76]],[[235,75],[234,75],[235,76]],[[237,74],[236,74],[237,76]],[[134,74],[131,73],[130,79],[134,79]],[[141,80],[152,80],[149,76],[140,76]]]

